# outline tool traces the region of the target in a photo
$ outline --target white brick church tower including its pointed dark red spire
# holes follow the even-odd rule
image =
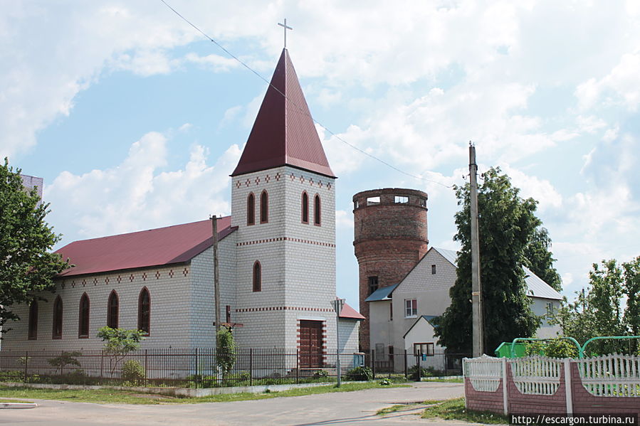
[[[335,175],[286,48],[231,178],[238,343],[317,362],[335,348]]]

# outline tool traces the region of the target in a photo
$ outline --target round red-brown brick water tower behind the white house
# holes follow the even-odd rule
[[[360,348],[369,350],[369,303],[375,290],[398,284],[427,251],[423,191],[383,188],[353,196],[355,256],[358,260]]]

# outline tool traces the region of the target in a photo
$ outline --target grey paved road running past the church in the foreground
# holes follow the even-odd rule
[[[0,410],[0,425],[16,426],[196,426],[196,425],[416,425],[413,412],[390,417],[377,410],[399,403],[444,400],[463,395],[459,383],[415,383],[411,388],[378,388],[291,398],[184,405],[103,405],[36,400],[31,410]],[[414,411],[415,412],[415,411]],[[429,422],[429,425],[434,425]],[[446,422],[455,425],[456,422]]]

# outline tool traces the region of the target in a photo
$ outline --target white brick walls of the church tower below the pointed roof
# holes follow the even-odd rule
[[[268,223],[260,223],[260,196],[269,196]],[[309,223],[302,223],[302,193]],[[289,166],[234,176],[232,225],[236,241],[238,343],[298,347],[301,319],[322,321],[325,346],[335,350],[335,179]],[[248,194],[256,197],[256,224],[247,225]],[[321,200],[314,224],[313,200]],[[262,291],[253,292],[253,263],[262,265]]]

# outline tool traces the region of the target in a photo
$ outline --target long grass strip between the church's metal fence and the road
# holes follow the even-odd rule
[[[407,385],[385,385],[384,388],[398,388]],[[377,382],[345,383],[340,388],[335,385],[298,388],[268,393],[231,393],[225,395],[211,395],[202,398],[174,398],[165,395],[135,393],[127,390],[99,389],[33,389],[9,388],[0,386],[0,398],[31,398],[36,400],[65,400],[78,403],[99,404],[193,404],[193,403],[224,403],[228,401],[261,400],[286,396],[314,395],[329,392],[352,392],[382,388]],[[0,399],[1,401],[1,399]]]

